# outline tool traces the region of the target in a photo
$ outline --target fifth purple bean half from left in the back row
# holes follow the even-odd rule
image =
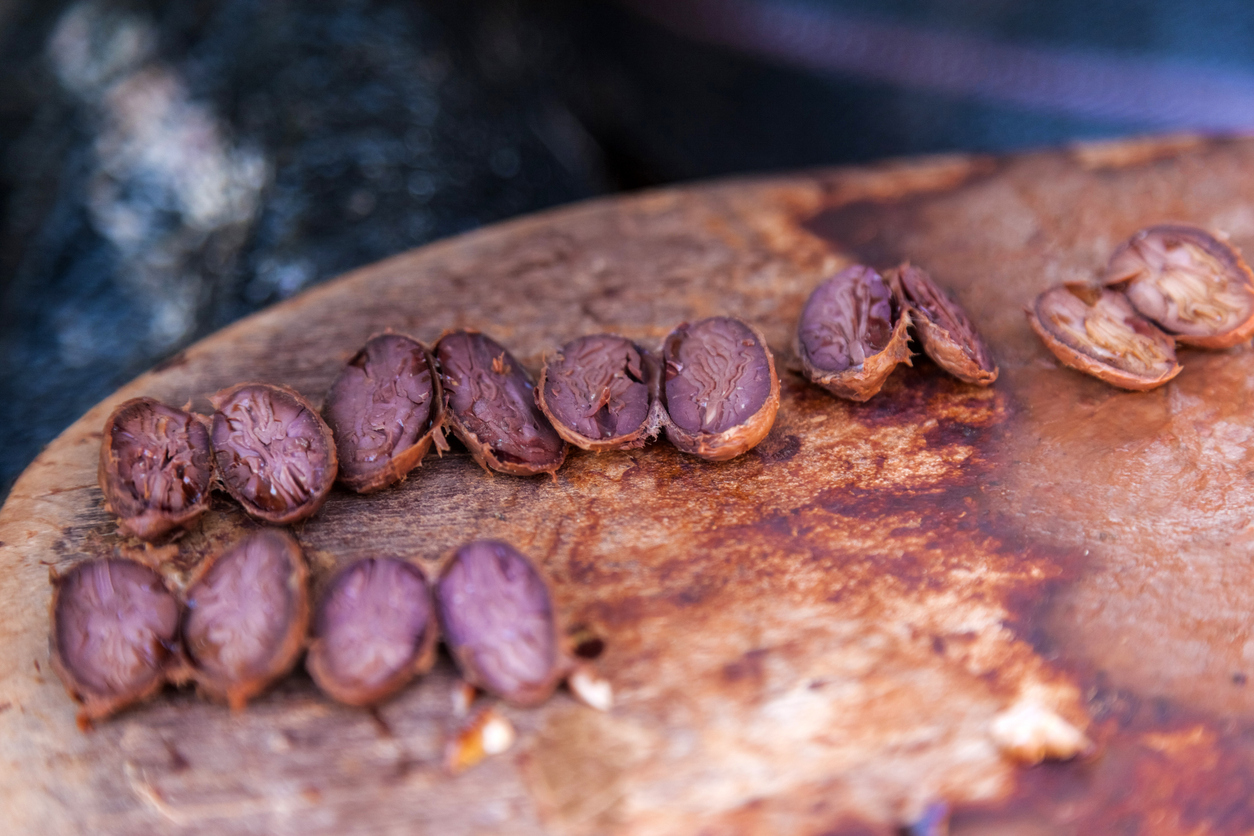
[[[548,357],[535,402],[558,435],[584,450],[642,447],[661,425],[657,358],[612,333],[579,337]]]

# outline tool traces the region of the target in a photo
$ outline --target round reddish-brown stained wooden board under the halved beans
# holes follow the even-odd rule
[[[0,510],[0,801],[10,833],[890,833],[938,801],[957,833],[1254,828],[1254,353],[1183,353],[1149,394],[1061,368],[1038,291],[1162,221],[1254,253],[1254,142],[930,158],[597,201],[370,266],[192,346],[98,405]],[[74,724],[48,663],[50,565],[132,549],[100,508],[104,417],[242,380],[319,401],[372,332],[474,326],[534,370],[588,332],[656,343],[757,323],[781,366],[834,269],[910,258],[967,306],[1002,377],[925,360],[851,405],[784,375],[770,436],[721,465],[665,444],[492,476],[464,451],[336,491],[298,526],[316,573],[433,563],[494,536],[606,643],[617,703],[504,709],[508,753],[458,777],[451,666],[370,713],[295,674],[231,714],[189,692]],[[227,500],[176,582],[246,525]],[[1093,757],[1023,768],[992,742],[1033,704]]]

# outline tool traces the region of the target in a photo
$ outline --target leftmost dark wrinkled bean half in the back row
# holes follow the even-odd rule
[[[208,509],[209,431],[198,415],[150,397],[132,399],[104,424],[97,474],[118,529],[153,540]]]

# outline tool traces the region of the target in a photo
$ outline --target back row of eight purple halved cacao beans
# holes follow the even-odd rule
[[[798,326],[804,374],[835,395],[867,400],[909,362],[913,323],[924,350],[959,379],[997,379],[987,346],[922,269],[888,278],[854,266],[820,285]],[[483,468],[554,474],[568,445],[643,446],[665,430],[680,450],[724,461],[770,431],[780,404],[774,356],[735,317],[675,328],[658,352],[616,335],[579,337],[548,356],[539,384],[492,337],[445,333],[435,351],[377,335],[349,361],[321,414],[298,392],[241,384],[211,399],[212,416],[152,399],[109,417],[99,481],[119,528],[152,540],[191,524],[221,485],[252,516],[302,520],[339,479],[369,493],[413,470],[450,429]]]

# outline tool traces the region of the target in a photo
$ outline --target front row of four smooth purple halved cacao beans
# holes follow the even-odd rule
[[[206,559],[182,593],[142,563],[87,560],[53,579],[53,666],[84,726],[166,683],[242,708],[306,649],[317,686],[350,706],[426,672],[438,635],[468,684],[513,704],[543,702],[576,671],[548,587],[523,554],[477,540],[434,574],[394,556],[357,560],[331,577],[311,615],[305,556],[282,529]]]

